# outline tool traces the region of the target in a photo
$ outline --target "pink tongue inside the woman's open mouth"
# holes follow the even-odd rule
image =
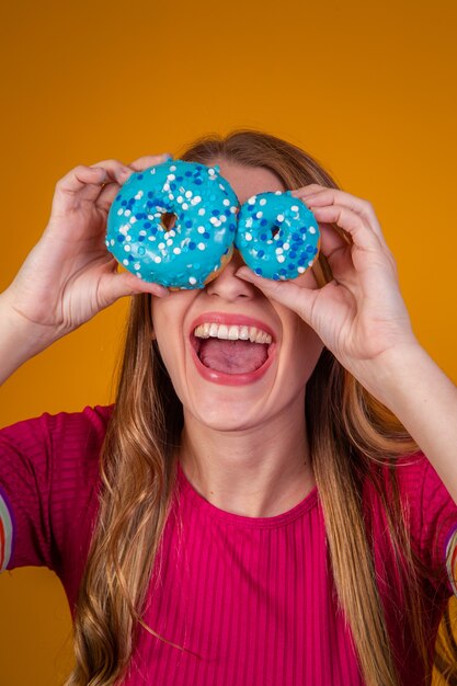
[[[267,345],[250,341],[203,339],[199,358],[205,367],[226,374],[247,374],[259,369],[267,357]]]

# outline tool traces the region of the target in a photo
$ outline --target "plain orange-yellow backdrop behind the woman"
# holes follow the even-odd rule
[[[456,20],[455,0],[9,2],[1,289],[72,167],[256,127],[374,204],[416,335],[457,379]],[[24,365],[0,391],[1,424],[107,402],[124,313]],[[0,608],[0,686],[58,685],[71,651],[56,578],[3,574]]]

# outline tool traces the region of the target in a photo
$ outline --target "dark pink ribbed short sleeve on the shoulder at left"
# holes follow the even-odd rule
[[[45,413],[0,431],[0,570],[59,573],[69,539],[80,545],[110,414],[102,407]]]

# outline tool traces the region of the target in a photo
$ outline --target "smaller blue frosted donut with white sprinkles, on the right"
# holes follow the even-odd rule
[[[260,193],[241,206],[235,244],[255,274],[286,281],[312,266],[320,248],[319,225],[289,191]]]

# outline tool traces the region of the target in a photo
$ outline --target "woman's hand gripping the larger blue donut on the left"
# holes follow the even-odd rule
[[[167,295],[167,288],[117,272],[105,247],[106,218],[119,187],[134,171],[165,161],[144,157],[77,167],[56,185],[43,237],[26,258],[2,302],[42,340],[39,347],[77,329],[122,296]],[[38,352],[38,351],[36,351]]]

